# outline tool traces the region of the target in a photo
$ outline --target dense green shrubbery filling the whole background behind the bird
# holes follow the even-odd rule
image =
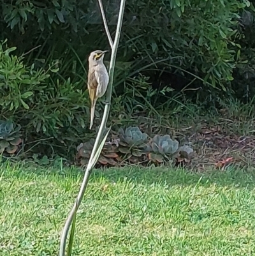
[[[0,3],[1,116],[22,126],[25,142],[52,137],[74,151],[89,136],[87,56],[110,49],[98,4]],[[103,4],[114,36],[119,1]],[[132,0],[124,19],[113,123],[138,112],[157,115],[184,99],[217,107],[226,96],[254,97],[251,1]]]

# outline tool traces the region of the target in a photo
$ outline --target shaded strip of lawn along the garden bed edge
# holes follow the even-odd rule
[[[218,184],[220,186],[239,186],[249,189],[255,186],[254,168],[235,169],[220,171],[208,169],[207,172],[192,172],[184,169],[172,168],[144,168],[144,167],[122,167],[111,169],[94,170],[91,174],[91,181],[103,179],[106,183],[117,183],[130,181],[136,184],[162,184],[164,186],[182,185],[210,186]],[[29,163],[0,164],[0,176],[59,176],[60,179],[72,177],[72,179],[83,179],[84,171],[77,167],[42,167]]]

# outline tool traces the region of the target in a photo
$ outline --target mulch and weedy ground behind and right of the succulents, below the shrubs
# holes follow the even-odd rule
[[[169,134],[179,140],[180,145],[189,144],[193,147],[194,158],[186,163],[191,169],[217,167],[223,170],[230,165],[255,167],[255,120],[235,118],[219,118],[212,122],[202,119],[196,120],[196,124],[189,122],[191,126],[183,122],[183,125],[179,123],[171,127],[170,123],[159,125],[154,120],[149,124],[149,118],[138,117],[138,126],[150,137]]]

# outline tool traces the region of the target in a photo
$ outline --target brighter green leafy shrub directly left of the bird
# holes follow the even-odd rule
[[[69,126],[84,128],[89,102],[79,86],[85,85],[69,78],[54,81],[50,79],[57,72],[54,65],[47,70],[26,66],[23,57],[11,55],[13,50],[6,41],[0,45],[1,116],[20,123],[27,134],[61,140]]]

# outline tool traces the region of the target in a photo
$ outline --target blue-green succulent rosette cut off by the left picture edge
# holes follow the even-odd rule
[[[20,128],[20,125],[16,126],[11,121],[0,121],[0,153],[6,151],[13,154],[17,151],[22,142]]]

